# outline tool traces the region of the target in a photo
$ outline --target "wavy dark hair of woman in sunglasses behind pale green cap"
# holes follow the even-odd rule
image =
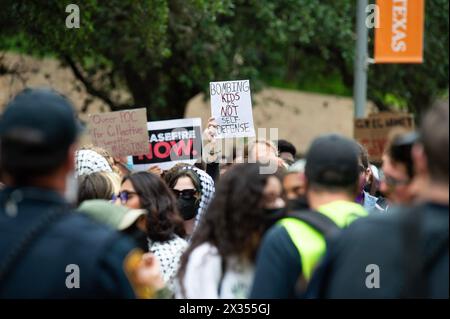
[[[141,208],[147,210],[147,236],[153,241],[168,241],[174,234],[184,238],[183,218],[178,212],[175,196],[164,181],[148,172],[137,172],[124,177],[139,195]]]

